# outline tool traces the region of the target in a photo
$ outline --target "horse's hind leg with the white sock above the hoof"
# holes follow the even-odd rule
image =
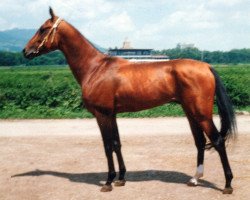
[[[196,169],[196,173],[193,176],[193,178],[191,178],[189,180],[189,182],[187,183],[188,186],[197,186],[198,185],[198,180],[199,178],[201,178],[203,176],[203,172],[204,172],[204,153],[205,153],[205,145],[206,145],[206,138],[203,134],[203,130],[200,127],[200,125],[191,117],[188,117],[189,120],[189,124],[193,133],[193,137],[195,140],[195,145],[197,148],[197,169]]]

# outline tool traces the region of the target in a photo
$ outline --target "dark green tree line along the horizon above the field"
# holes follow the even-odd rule
[[[191,58],[208,63],[250,63],[250,49],[233,49],[231,51],[201,51],[198,48],[180,48],[155,50],[155,55],[167,55],[170,59]],[[65,65],[64,55],[55,51],[33,60],[25,59],[21,52],[0,51],[0,66],[31,65]]]

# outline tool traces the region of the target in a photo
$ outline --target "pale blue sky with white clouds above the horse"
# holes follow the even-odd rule
[[[0,30],[38,29],[49,6],[104,48],[250,48],[250,0],[1,0]]]

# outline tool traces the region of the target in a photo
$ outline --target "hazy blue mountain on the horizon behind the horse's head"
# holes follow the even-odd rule
[[[0,51],[20,52],[35,34],[35,29],[11,29],[0,31]],[[92,43],[92,42],[91,42]],[[92,43],[95,48],[101,52],[106,52],[107,49]]]

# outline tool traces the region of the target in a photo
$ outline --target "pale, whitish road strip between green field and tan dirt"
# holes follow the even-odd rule
[[[214,117],[217,127],[219,118]],[[189,134],[185,117],[118,119],[120,135],[180,135]],[[250,133],[250,116],[237,117],[238,131]],[[97,136],[100,135],[95,119],[63,120],[0,120],[2,136]]]

